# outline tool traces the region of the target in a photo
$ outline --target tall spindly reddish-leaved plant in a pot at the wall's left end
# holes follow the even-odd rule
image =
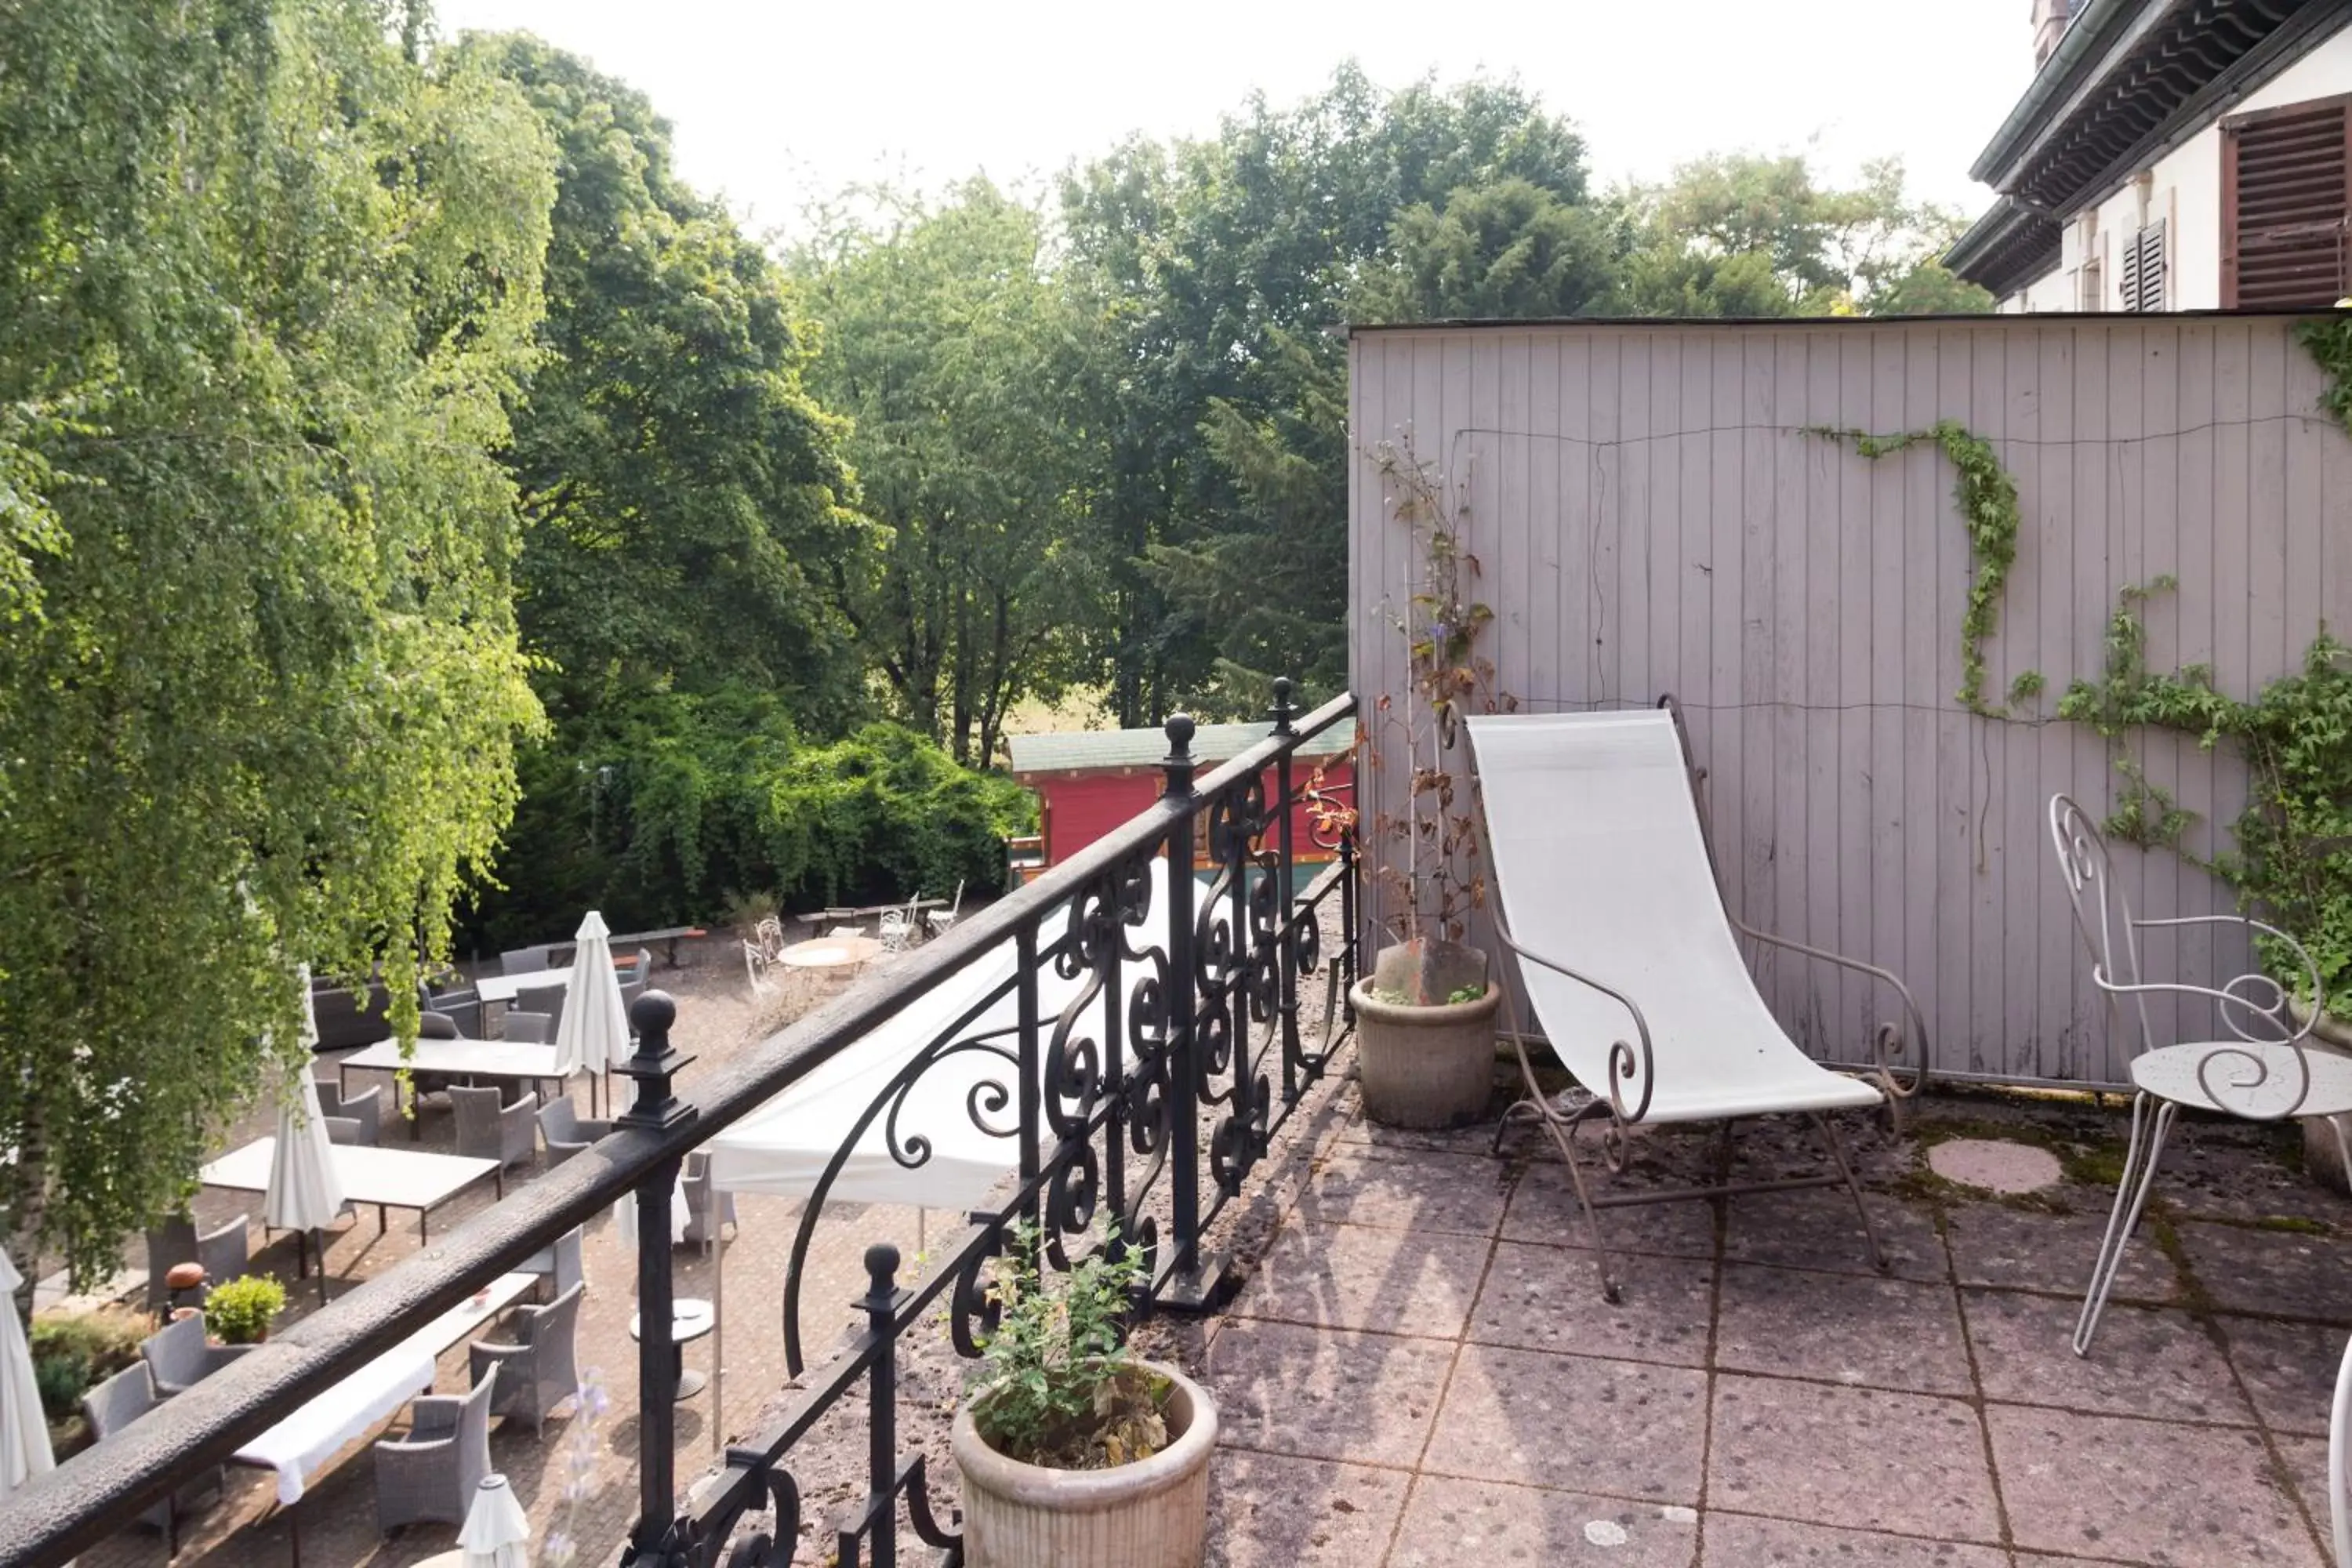
[[[1404,701],[1376,703],[1374,748],[1404,752],[1404,809],[1374,825],[1383,842],[1374,872],[1395,896],[1397,940],[1374,957],[1350,1004],[1364,1114],[1390,1126],[1477,1121],[1494,1093],[1494,1016],[1503,999],[1486,954],[1472,947],[1472,910],[1486,903],[1477,849],[1477,802],[1461,719],[1515,708],[1494,691],[1494,661],[1477,651],[1494,611],[1470,581],[1479,559],[1465,543],[1468,503],[1409,449],[1374,454],[1390,505],[1418,548],[1423,574],[1397,630],[1409,682]]]

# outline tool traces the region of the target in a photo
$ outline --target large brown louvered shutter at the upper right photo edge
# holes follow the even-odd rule
[[[2333,306],[2352,289],[2347,110],[2352,96],[2223,122],[2223,306]]]

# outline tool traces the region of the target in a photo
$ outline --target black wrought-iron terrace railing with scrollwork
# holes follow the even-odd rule
[[[1040,1253],[1056,1269],[1070,1267],[1082,1246],[1141,1251],[1148,1267],[1138,1309],[1218,1305],[1228,1274],[1207,1255],[1204,1237],[1218,1211],[1244,1192],[1268,1138],[1348,1037],[1345,987],[1357,959],[1355,837],[1345,816],[1319,818],[1312,839],[1336,858],[1298,886],[1294,806],[1324,797],[1296,776],[1294,759],[1303,741],[1350,724],[1355,701],[1341,696],[1298,715],[1289,693],[1289,682],[1277,682],[1272,733],[1204,778],[1195,778],[1192,722],[1171,717],[1164,792],[1148,811],[717,1067],[699,1084],[694,1103],[673,1084],[689,1060],[670,1041],[675,1006],[661,992],[640,997],[633,1013],[640,1048],[626,1067],[637,1086],[635,1103],[609,1138],[16,1493],[0,1507],[0,1563],[59,1563],[113,1535],[146,1502],[223,1462],[294,1403],[623,1192],[640,1199],[637,1312],[642,1321],[666,1321],[673,1302],[670,1192],[684,1157],[1009,945],[1011,976],[985,987],[953,1025],[910,1053],[854,1119],[802,1208],[781,1281],[786,1361],[795,1378],[804,1371],[800,1291],[823,1199],[875,1126],[882,1126],[889,1157],[908,1171],[931,1159],[924,1128],[903,1126],[901,1117],[913,1086],[938,1063],[993,1058],[962,1112],[978,1133],[1014,1145],[1014,1173],[995,1194],[1000,1201],[974,1213],[962,1237],[934,1248],[936,1260],[915,1284],[898,1284],[896,1248],[870,1248],[870,1288],[858,1302],[863,1331],[818,1368],[781,1420],[727,1450],[720,1474],[696,1486],[687,1509],[677,1507],[677,1359],[659,1333],[642,1335],[637,1359],[640,1516],[623,1561],[663,1568],[788,1563],[800,1533],[793,1448],[861,1382],[868,1497],[840,1526],[837,1561],[894,1568],[901,1514],[917,1540],[953,1556],[955,1533],[931,1512],[922,1458],[898,1453],[898,1340],[948,1298],[955,1349],[976,1354],[990,1312],[988,1265],[1016,1222],[1035,1225]],[[1207,889],[1195,877],[1200,860]],[[1152,907],[1160,900],[1164,910]],[[1338,903],[1343,936],[1327,959],[1322,914],[1331,903]],[[1047,976],[1056,978],[1056,992],[1068,992],[1051,1018],[1044,1013]],[[1317,976],[1324,980],[1322,1027],[1308,1039],[1301,987]],[[983,1027],[1007,999],[1014,1023]],[[1108,1220],[1101,1232],[1098,1220]],[[748,1516],[769,1509],[771,1528],[746,1528]]]

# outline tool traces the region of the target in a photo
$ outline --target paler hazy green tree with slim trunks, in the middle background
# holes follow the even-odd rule
[[[941,207],[880,193],[833,219],[795,270],[826,331],[811,381],[854,425],[870,559],[833,595],[901,715],[985,766],[1004,717],[1054,693],[1096,618],[1077,548],[1075,320],[1044,219],[988,181]]]

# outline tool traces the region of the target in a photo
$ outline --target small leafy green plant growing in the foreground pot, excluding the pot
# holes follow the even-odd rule
[[[1145,1255],[1110,1237],[1047,1286],[1037,1227],[1016,1222],[1009,1241],[990,1288],[997,1326],[974,1375],[981,1439],[1023,1465],[1056,1469],[1150,1458],[1167,1446],[1157,1413],[1167,1389],[1138,1387],[1141,1368],[1127,1356],[1127,1314]]]

